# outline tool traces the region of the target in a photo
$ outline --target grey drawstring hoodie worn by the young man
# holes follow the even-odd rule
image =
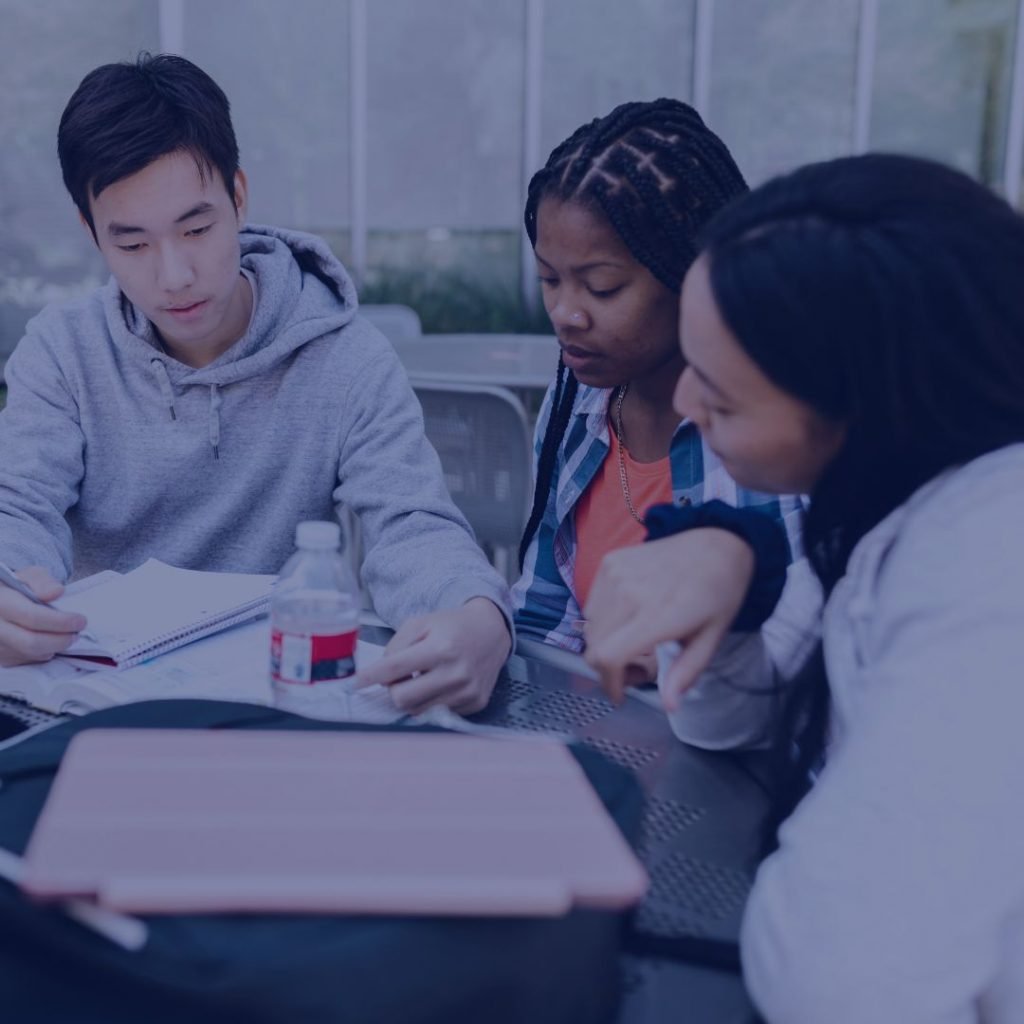
[[[295,524],[358,516],[375,607],[411,614],[507,588],[449,498],[394,350],[319,239],[242,233],[246,334],[194,369],[112,280],[28,326],[0,413],[0,557],[57,579],[153,556],[275,572]]]

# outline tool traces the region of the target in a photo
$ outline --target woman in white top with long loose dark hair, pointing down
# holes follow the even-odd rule
[[[811,498],[820,586],[777,616],[820,641],[788,680],[748,658],[719,682],[730,740],[778,755],[741,934],[755,1002],[785,1024],[1024,1021],[1024,220],[925,161],[804,168],[711,226],[680,334],[678,412],[742,485]],[[612,691],[683,642],[667,700],[709,745],[715,680],[683,691],[754,573],[730,528],[614,553],[586,609]]]

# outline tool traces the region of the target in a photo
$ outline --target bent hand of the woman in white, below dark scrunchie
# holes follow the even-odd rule
[[[612,551],[587,601],[584,656],[615,701],[631,665],[666,640],[683,653],[663,682],[667,706],[708,667],[754,574],[754,552],[727,530],[706,527]]]

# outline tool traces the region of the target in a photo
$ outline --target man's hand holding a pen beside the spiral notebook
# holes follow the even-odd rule
[[[53,601],[63,593],[63,587],[38,565],[22,569],[17,575],[41,601]],[[48,662],[70,647],[83,629],[82,615],[35,604],[0,584],[0,666]]]

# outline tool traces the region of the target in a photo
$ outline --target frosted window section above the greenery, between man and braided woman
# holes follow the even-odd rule
[[[523,4],[367,6],[370,227],[516,225]]]

